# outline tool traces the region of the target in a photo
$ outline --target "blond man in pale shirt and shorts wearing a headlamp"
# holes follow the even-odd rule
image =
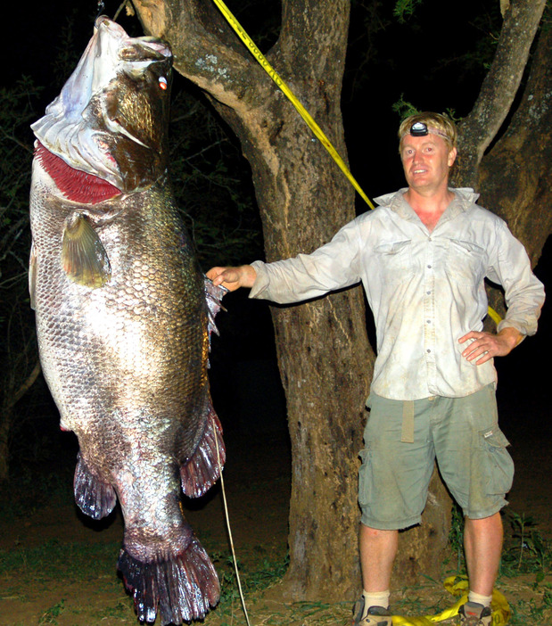
[[[360,456],[363,596],[354,626],[391,626],[391,568],[398,531],[420,523],[435,457],[465,515],[465,626],[491,624],[490,598],[502,549],[500,509],[514,475],[498,429],[493,358],[537,330],[544,301],[523,245],[503,220],[449,188],[457,156],[454,123],[421,113],[400,125],[408,188],[376,199],[309,255],[239,268],[211,268],[228,289],[301,301],[362,281],[374,312],[377,358]],[[507,316],[482,332],[483,280],[502,284]]]

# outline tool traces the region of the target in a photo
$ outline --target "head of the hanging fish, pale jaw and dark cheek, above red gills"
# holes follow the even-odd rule
[[[164,175],[172,54],[101,16],[62,92],[31,128],[71,169],[143,191]]]

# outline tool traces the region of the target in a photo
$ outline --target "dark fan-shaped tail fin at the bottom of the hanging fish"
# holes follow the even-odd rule
[[[140,622],[154,622],[158,610],[161,626],[201,620],[218,603],[217,572],[195,537],[184,552],[151,563],[139,561],[123,547],[118,566]]]

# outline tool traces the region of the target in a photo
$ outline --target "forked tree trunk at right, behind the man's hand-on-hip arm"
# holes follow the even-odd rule
[[[507,221],[523,243],[534,268],[552,231],[552,37],[542,29],[531,58],[531,72],[512,120],[489,152],[514,106],[544,2],[517,0],[506,13],[501,45],[473,111],[462,120],[460,158],[454,182],[481,191],[480,203]],[[522,61],[523,63],[520,63]],[[512,66],[512,67],[511,67]],[[500,79],[501,78],[501,79]],[[506,83],[506,84],[504,84]],[[504,317],[501,290],[488,285],[490,306]],[[488,317],[485,329],[493,330]]]

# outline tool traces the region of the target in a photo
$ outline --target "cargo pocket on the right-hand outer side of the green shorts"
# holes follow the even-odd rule
[[[514,480],[514,461],[507,451],[510,444],[498,425],[479,431],[479,442],[487,494],[504,496]]]

